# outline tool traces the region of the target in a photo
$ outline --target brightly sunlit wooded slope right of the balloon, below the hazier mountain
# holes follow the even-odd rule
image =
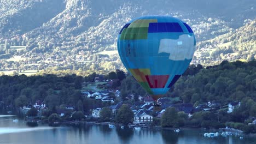
[[[232,29],[216,38],[200,41],[193,58],[194,63],[218,64],[223,60],[252,61],[256,59],[256,20]]]

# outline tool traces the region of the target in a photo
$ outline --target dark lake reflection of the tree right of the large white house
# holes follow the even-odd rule
[[[165,143],[177,143],[178,137],[182,134],[182,131],[179,133],[174,133],[173,130],[161,130],[162,140],[164,140]]]

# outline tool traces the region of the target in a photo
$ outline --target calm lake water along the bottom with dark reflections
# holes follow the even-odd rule
[[[14,123],[15,117],[0,116],[0,144],[2,143],[256,143],[256,137],[203,137],[201,129],[187,129],[180,133],[173,130],[140,130],[125,128],[108,128],[108,125],[83,125],[80,127],[59,127],[51,128],[47,125],[30,128],[25,122]]]

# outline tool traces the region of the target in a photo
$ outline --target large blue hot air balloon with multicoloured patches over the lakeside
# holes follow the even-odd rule
[[[156,101],[188,68],[195,35],[187,23],[171,16],[143,16],[124,25],[118,53],[125,68]]]

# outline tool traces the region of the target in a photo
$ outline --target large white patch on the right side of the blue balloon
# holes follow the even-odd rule
[[[161,39],[158,53],[170,53],[169,59],[173,61],[184,61],[194,56],[194,37],[189,34],[179,35],[179,39]]]

